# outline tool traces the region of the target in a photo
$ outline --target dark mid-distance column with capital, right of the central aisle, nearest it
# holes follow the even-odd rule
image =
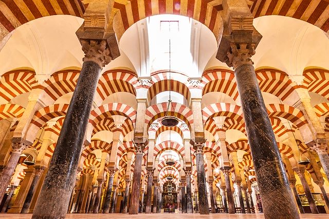
[[[208,198],[206,190],[206,173],[203,155],[203,143],[195,143],[196,147],[196,172],[197,172],[197,185],[199,194],[199,213],[209,214]]]

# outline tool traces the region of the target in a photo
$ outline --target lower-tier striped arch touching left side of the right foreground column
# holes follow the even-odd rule
[[[202,109],[202,118],[204,123],[208,119],[216,116],[226,116],[237,122],[242,122],[242,109],[238,105],[231,103],[213,103]]]

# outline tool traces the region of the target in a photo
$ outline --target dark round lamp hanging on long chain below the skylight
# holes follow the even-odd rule
[[[170,22],[169,22],[169,34],[170,34]],[[171,41],[169,36],[169,100],[168,100],[168,106],[167,106],[165,117],[161,120],[161,124],[167,127],[176,126],[179,122],[179,120],[177,119],[177,113],[174,113],[174,116],[169,115],[170,108],[172,108],[174,111],[174,107],[171,100]]]

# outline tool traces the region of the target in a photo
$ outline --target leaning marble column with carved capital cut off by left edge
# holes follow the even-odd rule
[[[15,140],[15,138],[13,138]],[[30,145],[31,143],[24,141],[22,142],[12,142],[12,152],[6,164],[6,167],[2,170],[0,175],[0,203],[4,198],[7,187],[10,184],[10,179],[15,172],[17,162],[20,159],[22,152]]]

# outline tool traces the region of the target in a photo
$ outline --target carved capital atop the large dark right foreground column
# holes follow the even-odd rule
[[[255,54],[254,46],[254,43],[231,43],[226,64],[233,68],[244,64],[252,65],[251,56]]]

